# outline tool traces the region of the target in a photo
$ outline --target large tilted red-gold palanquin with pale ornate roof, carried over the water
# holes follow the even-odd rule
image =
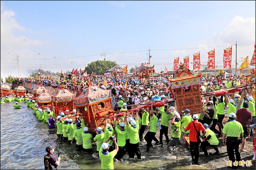
[[[110,90],[103,90],[96,86],[91,86],[91,82],[87,83],[88,88],[75,99],[75,105],[78,111],[82,114],[85,126],[88,125],[89,132],[95,132],[97,127],[104,128],[105,117],[113,115],[109,114],[112,110],[112,97]],[[87,107],[87,111],[85,110]],[[110,121],[114,121],[113,118]]]

